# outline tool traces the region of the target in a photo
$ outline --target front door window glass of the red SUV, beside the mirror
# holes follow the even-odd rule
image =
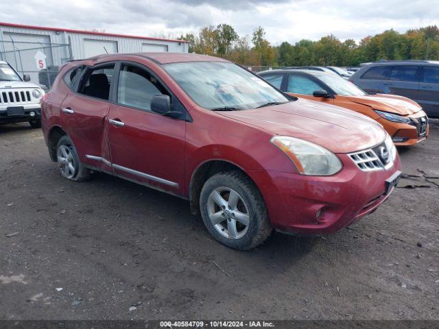
[[[150,111],[154,95],[169,95],[163,85],[138,66],[122,65],[119,73],[117,102]]]

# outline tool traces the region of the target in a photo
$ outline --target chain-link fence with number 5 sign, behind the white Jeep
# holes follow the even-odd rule
[[[60,65],[71,59],[70,43],[53,43],[47,36],[3,33],[0,40],[0,60],[46,90],[54,83]]]

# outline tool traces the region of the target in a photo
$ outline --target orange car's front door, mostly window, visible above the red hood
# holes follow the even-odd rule
[[[296,97],[302,97],[311,99],[313,101],[322,101],[324,103],[333,103],[332,98],[314,97],[313,93],[316,90],[326,90],[331,93],[330,90],[313,77],[308,75],[298,75],[294,73],[289,73],[287,75],[287,80],[285,81],[285,91]]]

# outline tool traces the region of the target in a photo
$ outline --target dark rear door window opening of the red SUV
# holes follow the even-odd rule
[[[86,73],[86,79],[80,86],[79,93],[108,100],[110,97],[110,86],[114,76],[115,64],[108,66],[99,66],[96,69],[90,69]]]

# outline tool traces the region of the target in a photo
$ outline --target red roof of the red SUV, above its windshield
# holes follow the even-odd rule
[[[139,56],[147,58],[156,62],[157,64],[169,64],[179,62],[228,62],[223,58],[198,55],[196,53],[108,53],[104,55],[98,55],[91,58],[84,58],[82,60],[111,60],[111,58],[120,58],[123,56]],[[78,62],[82,60],[72,60],[71,62]]]

